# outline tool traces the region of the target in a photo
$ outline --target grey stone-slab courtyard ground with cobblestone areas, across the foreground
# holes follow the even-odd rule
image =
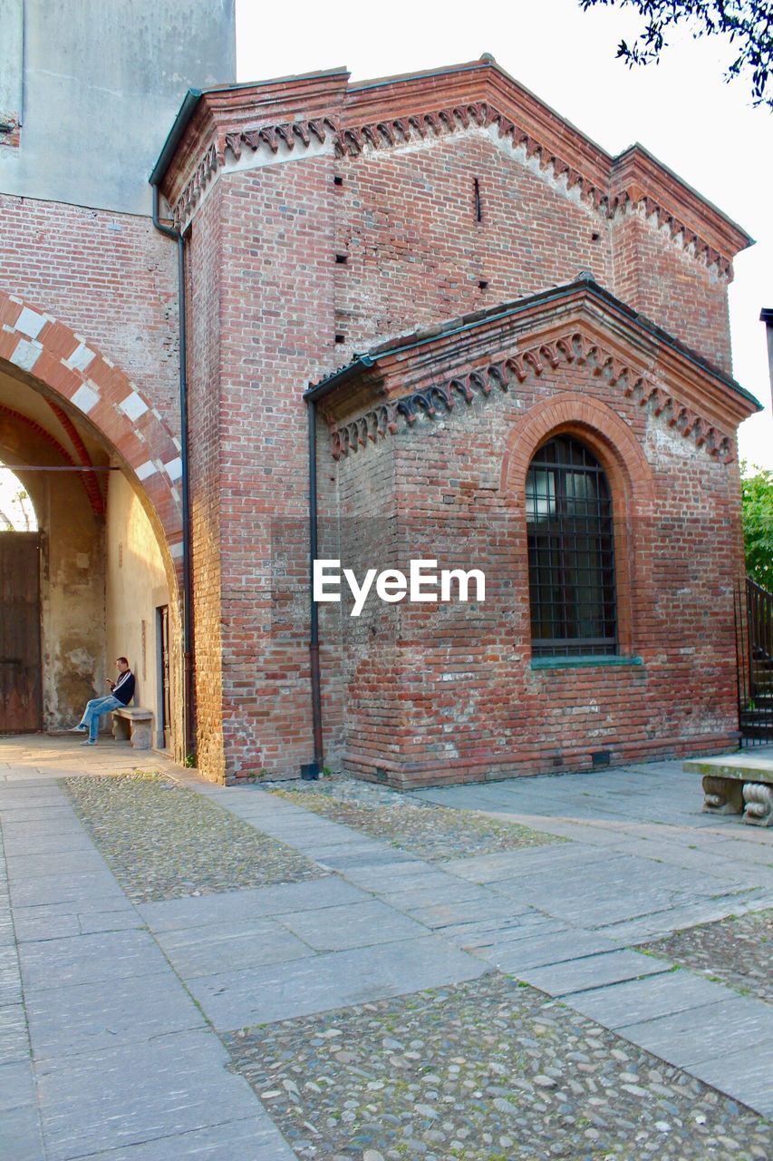
[[[626,947],[773,906],[771,834],[676,763],[411,795],[455,856],[428,865],[304,809],[327,783],[296,805],[70,742],[0,740],[3,1161],[770,1154],[770,1005]],[[550,845],[470,856],[497,812]],[[251,886],[267,843],[315,878]]]

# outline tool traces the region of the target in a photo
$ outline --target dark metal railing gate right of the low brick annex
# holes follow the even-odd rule
[[[773,743],[773,593],[746,578],[736,589],[738,728],[742,745]]]

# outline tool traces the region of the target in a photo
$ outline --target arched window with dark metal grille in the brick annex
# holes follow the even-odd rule
[[[536,452],[526,477],[534,656],[617,651],[612,496],[571,435]]]

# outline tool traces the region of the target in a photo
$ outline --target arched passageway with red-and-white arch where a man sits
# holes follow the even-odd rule
[[[2,293],[0,315],[0,461],[37,512],[41,658],[35,722],[0,730],[72,726],[125,655],[154,743],[181,757],[179,446],[87,340]]]

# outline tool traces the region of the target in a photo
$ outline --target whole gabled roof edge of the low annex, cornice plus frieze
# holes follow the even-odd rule
[[[449,351],[451,360],[443,358]],[[735,427],[761,408],[735,380],[590,277],[382,344],[311,385],[306,398],[323,406],[339,459],[561,362],[592,366],[723,462],[735,459]],[[455,373],[454,366],[468,370]],[[353,405],[366,410],[351,418]]]

